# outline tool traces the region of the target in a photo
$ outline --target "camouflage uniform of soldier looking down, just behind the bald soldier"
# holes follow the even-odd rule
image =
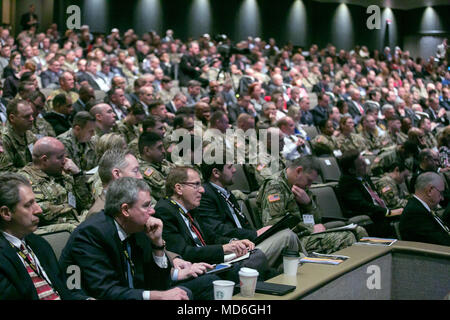
[[[60,134],[58,140],[66,148],[67,157],[81,170],[90,170],[96,166],[96,157],[94,144],[91,141],[80,143],[76,141],[73,129]]]

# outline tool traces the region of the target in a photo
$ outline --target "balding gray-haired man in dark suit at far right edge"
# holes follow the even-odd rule
[[[434,212],[443,199],[444,180],[435,172],[425,172],[417,178],[415,189],[400,218],[402,240],[450,246],[449,226]]]

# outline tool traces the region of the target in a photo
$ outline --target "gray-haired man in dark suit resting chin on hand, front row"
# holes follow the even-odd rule
[[[71,235],[60,263],[78,265],[81,286],[99,299],[187,300],[191,290],[212,297],[212,280],[205,275],[183,286],[172,281],[191,274],[174,270],[165,252],[161,220],[153,217],[150,190],[141,179],[120,178],[108,186],[105,210],[82,223]],[[207,265],[202,265],[196,276]],[[173,273],[172,273],[173,272]]]

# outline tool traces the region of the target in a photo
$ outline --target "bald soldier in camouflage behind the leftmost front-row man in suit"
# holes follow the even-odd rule
[[[33,163],[19,173],[30,181],[42,208],[41,233],[73,231],[84,220],[92,198],[81,170],[65,157],[60,141],[51,137],[39,139],[33,149]]]

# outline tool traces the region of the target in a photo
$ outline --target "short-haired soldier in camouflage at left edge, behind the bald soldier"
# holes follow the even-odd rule
[[[8,121],[3,131],[0,171],[17,171],[31,162],[36,137],[30,131],[33,110],[25,100],[13,100],[7,107]]]

